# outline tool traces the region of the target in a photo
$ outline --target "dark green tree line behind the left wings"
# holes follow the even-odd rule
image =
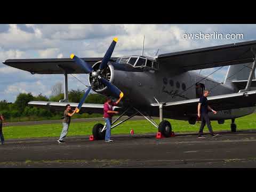
[[[60,119],[63,115],[63,111],[51,112],[49,109],[31,107],[28,105],[29,101],[57,101],[59,102],[64,98],[62,91],[55,90],[55,95],[51,95],[49,98],[42,93],[34,96],[31,93],[20,93],[15,102],[10,103],[6,100],[0,101],[0,114],[3,114],[7,121],[37,121],[46,119]],[[85,91],[71,90],[68,92],[69,102],[78,103]],[[104,103],[106,98],[100,94],[89,94],[85,100],[85,103]],[[77,114],[76,118],[87,117],[100,117],[100,114]]]

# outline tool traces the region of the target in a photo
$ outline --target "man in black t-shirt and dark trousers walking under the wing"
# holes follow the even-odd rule
[[[214,135],[214,133],[212,131],[212,126],[211,126],[211,122],[210,122],[210,119],[209,119],[208,112],[211,110],[213,112],[213,114],[217,114],[217,111],[214,111],[208,105],[208,100],[207,100],[208,95],[209,95],[209,91],[204,90],[204,94],[200,98],[199,103],[198,103],[198,107],[197,107],[198,118],[201,117],[201,119],[202,119],[202,123],[201,123],[200,130],[199,130],[199,133],[198,133],[198,138],[205,138],[205,137],[202,136],[205,124],[207,124],[207,127],[208,127],[212,137],[217,137],[217,135],[218,135],[218,134]]]

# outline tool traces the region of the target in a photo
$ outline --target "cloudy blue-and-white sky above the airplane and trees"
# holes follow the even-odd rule
[[[112,38],[117,36],[113,57],[139,55],[145,35],[145,55],[197,49],[256,39],[256,25],[0,25],[0,59],[103,57]],[[184,39],[183,34],[243,34],[243,39]],[[208,75],[214,69],[204,69]],[[212,78],[223,81],[227,67]],[[63,75],[31,75],[0,63],[0,100],[13,102],[20,92],[51,95],[51,87]],[[76,75],[87,83],[87,76]],[[69,75],[69,90],[85,86]]]

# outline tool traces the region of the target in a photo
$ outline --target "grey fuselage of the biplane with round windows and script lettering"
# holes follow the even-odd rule
[[[120,69],[122,63],[111,63],[114,66],[114,81],[123,93],[123,106],[133,106],[146,112],[150,116],[159,116],[159,109],[151,103],[173,102],[195,99],[196,83],[200,82],[205,89],[210,90],[210,96],[235,93],[235,87],[221,84],[211,78],[206,78],[194,71],[183,72],[174,67],[160,66],[158,70],[130,71]],[[203,79],[203,80],[202,80]],[[217,115],[210,113],[210,119],[231,119],[253,113],[254,107],[218,111]],[[177,114],[164,108],[164,118],[188,120],[196,118],[197,114]]]

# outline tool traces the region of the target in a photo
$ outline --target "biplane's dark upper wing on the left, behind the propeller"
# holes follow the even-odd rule
[[[101,61],[102,58],[82,58],[84,61],[93,65]],[[117,58],[111,58],[115,61]],[[63,69],[68,74],[83,74],[83,70],[75,65],[69,58],[61,59],[7,59],[3,62],[7,66],[29,71],[33,74],[63,74]]]

